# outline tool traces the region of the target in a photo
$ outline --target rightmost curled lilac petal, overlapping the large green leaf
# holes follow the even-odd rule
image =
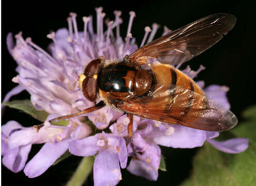
[[[227,153],[240,153],[248,148],[247,138],[233,138],[227,141],[219,142],[214,139],[207,139],[207,142],[213,145],[218,150]]]

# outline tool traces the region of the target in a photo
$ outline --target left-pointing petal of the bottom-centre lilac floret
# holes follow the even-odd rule
[[[76,156],[93,156],[99,150],[99,146],[97,145],[98,140],[99,134],[74,140],[68,144],[69,152]]]

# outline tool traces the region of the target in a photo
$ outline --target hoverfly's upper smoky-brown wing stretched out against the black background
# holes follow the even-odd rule
[[[209,15],[144,45],[129,58],[141,63],[150,58],[163,64],[184,63],[213,46],[235,23],[231,14]]]

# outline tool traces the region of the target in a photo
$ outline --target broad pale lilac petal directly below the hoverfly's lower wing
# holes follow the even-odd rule
[[[154,142],[173,148],[194,148],[204,144],[205,131],[177,125],[172,125],[172,127],[175,129],[172,135],[154,137]]]

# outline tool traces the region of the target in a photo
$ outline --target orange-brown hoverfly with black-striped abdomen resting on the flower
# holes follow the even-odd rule
[[[127,113],[129,138],[133,115],[206,131],[224,131],[237,123],[235,115],[174,66],[190,60],[218,42],[236,18],[218,13],[156,39],[122,59],[93,59],[79,75],[85,98],[102,101],[53,122],[93,112],[107,105]],[[160,63],[152,63],[156,59]]]

